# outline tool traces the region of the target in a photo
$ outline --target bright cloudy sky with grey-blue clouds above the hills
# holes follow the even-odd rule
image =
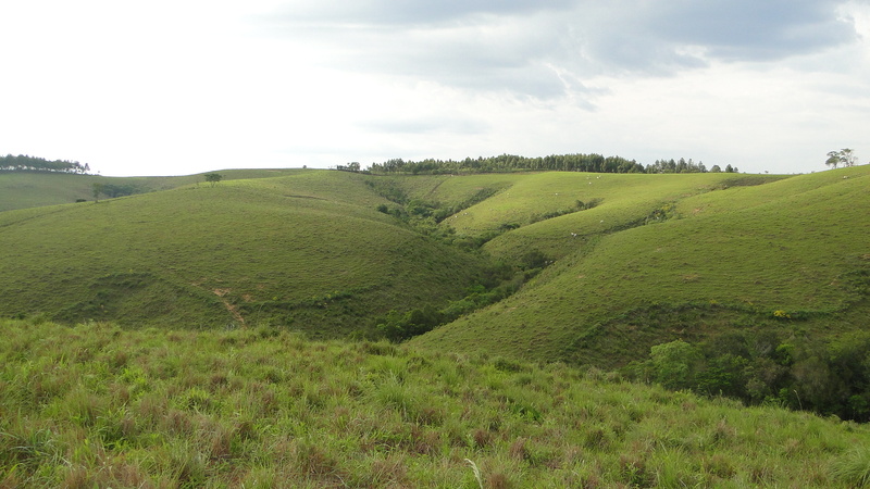
[[[7,0],[0,154],[108,176],[870,160],[870,0]]]

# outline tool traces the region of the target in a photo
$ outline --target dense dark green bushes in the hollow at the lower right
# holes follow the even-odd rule
[[[747,404],[776,403],[796,410],[870,421],[870,333],[823,342],[772,331],[732,334],[691,344],[652,347],[633,375],[671,389],[734,397]]]

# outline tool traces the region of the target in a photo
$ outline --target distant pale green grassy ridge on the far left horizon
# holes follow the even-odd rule
[[[269,178],[300,170],[223,170],[225,179]],[[128,187],[132,193],[167,190],[206,181],[202,175],[174,177],[104,177],[50,172],[0,172],[0,212],[94,200],[94,184]],[[104,196],[103,196],[104,197]]]

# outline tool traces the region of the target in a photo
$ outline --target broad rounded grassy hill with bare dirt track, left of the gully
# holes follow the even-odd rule
[[[0,213],[0,314],[334,337],[481,279],[485,260],[377,212],[363,179],[296,172]]]

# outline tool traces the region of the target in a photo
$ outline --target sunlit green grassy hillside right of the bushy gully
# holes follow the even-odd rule
[[[515,296],[413,343],[613,367],[657,343],[735,328],[836,335],[867,327],[867,166],[765,185],[754,185],[761,176],[711,177],[577,175],[591,178],[580,185],[588,191],[545,187],[545,199],[526,197],[542,187],[520,192],[518,185],[468,209],[453,225],[480,231],[529,223],[571,199],[601,199],[488,242],[496,255],[536,248],[557,260]]]

